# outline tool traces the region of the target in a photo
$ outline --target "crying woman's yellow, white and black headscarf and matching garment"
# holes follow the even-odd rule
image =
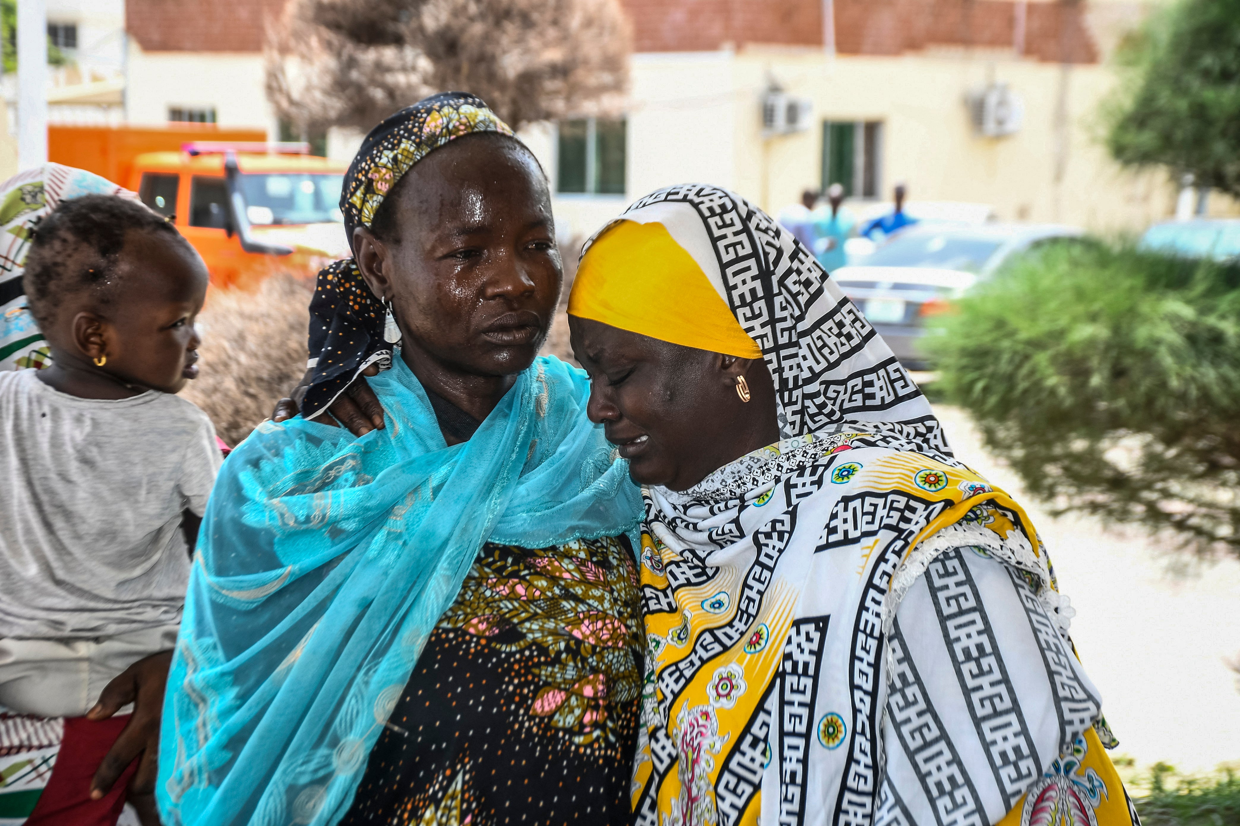
[[[644,490],[637,824],[1132,825],[1028,516],[790,233],[661,189],[569,313],[760,355],[777,396],[780,442]]]

